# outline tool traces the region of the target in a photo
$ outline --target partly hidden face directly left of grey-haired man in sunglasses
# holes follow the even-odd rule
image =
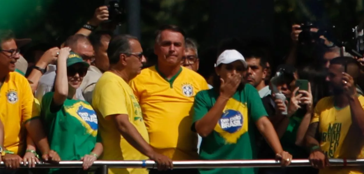
[[[109,69],[110,63],[107,57],[107,47],[109,46],[111,36],[104,34],[100,38],[101,45],[95,49],[95,66],[105,72]]]

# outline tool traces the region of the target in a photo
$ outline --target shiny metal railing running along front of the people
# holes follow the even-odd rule
[[[329,159],[330,166],[362,166],[364,159]],[[60,161],[57,164],[37,163],[37,168],[80,168],[82,161]],[[27,167],[21,163],[21,167]],[[280,167],[281,163],[274,159],[255,160],[209,160],[209,161],[173,161],[174,169],[186,168],[242,168],[242,167]],[[289,167],[311,166],[308,159],[293,159]],[[4,162],[0,168],[5,167]],[[108,168],[149,168],[156,169],[154,161],[95,161],[92,167],[102,167],[103,174],[107,174]]]

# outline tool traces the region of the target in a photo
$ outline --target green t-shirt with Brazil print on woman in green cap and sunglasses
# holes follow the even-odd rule
[[[62,160],[80,160],[95,147],[96,113],[86,101],[74,99],[66,99],[58,111],[51,112],[53,95],[54,92],[48,92],[41,101],[41,118],[50,148]]]

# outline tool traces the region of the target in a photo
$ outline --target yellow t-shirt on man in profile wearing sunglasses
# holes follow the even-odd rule
[[[105,72],[96,83],[92,107],[99,121],[99,134],[104,146],[102,160],[148,159],[121,136],[110,115],[126,114],[129,121],[149,143],[142,111],[130,86],[118,75]],[[109,169],[111,174],[147,174],[146,169]]]

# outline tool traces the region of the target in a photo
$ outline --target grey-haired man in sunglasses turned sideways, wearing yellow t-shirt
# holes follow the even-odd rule
[[[158,163],[159,170],[172,167],[172,161],[149,145],[138,100],[129,81],[146,62],[138,38],[120,35],[111,38],[107,49],[110,69],[96,83],[92,107],[99,121],[104,146],[101,160],[146,160]],[[147,174],[147,169],[109,169],[109,174]]]

